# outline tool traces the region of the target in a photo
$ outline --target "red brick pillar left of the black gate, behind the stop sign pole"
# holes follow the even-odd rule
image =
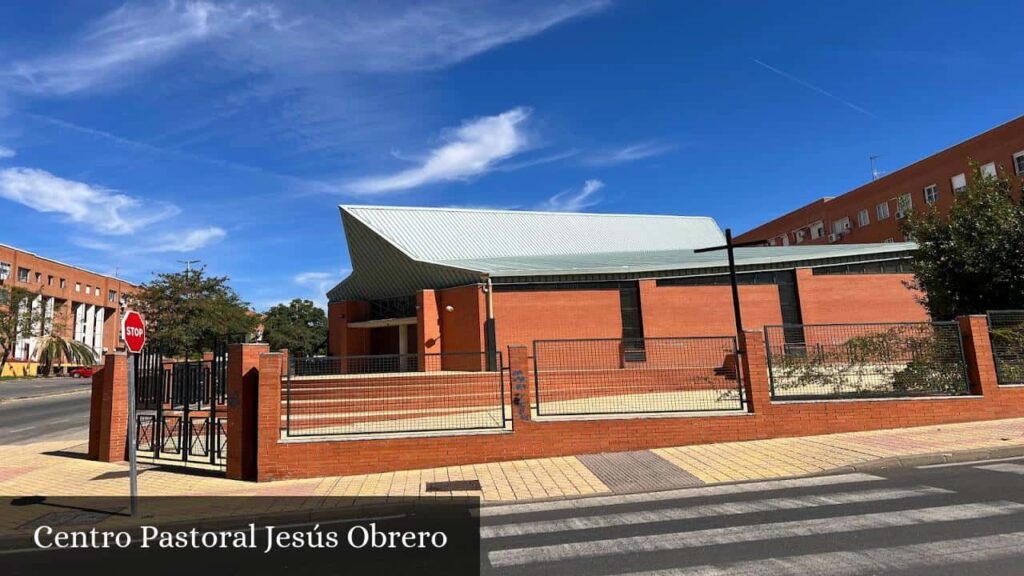
[[[89,454],[102,462],[123,462],[128,441],[128,357],[124,353],[106,355],[99,390],[98,412],[90,414],[90,444],[92,426],[96,426],[95,450]],[[95,402],[95,401],[93,401]],[[95,403],[93,406],[96,406]],[[93,419],[98,420],[93,424]]]

